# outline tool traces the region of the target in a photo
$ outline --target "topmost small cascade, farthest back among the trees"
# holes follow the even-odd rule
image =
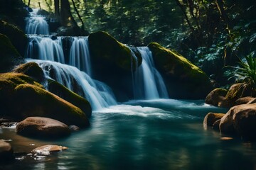
[[[34,8],[31,16],[26,18],[26,33],[49,35],[49,26],[45,16],[38,16],[38,8]]]

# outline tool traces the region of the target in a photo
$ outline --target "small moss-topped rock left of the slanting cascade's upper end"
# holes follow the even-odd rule
[[[43,82],[44,79],[43,69],[41,69],[36,62],[28,62],[26,64],[18,65],[18,67],[14,68],[13,72],[26,74],[39,83]]]

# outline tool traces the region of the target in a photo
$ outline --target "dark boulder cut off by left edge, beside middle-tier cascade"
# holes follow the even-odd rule
[[[6,35],[0,33],[0,73],[9,72],[16,64],[21,64],[23,59],[11,44]]]

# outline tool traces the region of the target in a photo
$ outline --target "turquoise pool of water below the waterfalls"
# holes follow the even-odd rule
[[[42,141],[1,129],[15,152],[41,145],[69,149],[47,157],[17,154],[0,169],[256,169],[256,143],[221,140],[203,129],[203,101],[130,101],[92,114],[91,127],[64,140]]]

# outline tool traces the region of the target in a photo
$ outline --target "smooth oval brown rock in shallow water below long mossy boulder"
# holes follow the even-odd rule
[[[58,138],[70,135],[68,125],[58,120],[43,117],[28,117],[16,126],[19,135],[28,137]]]

